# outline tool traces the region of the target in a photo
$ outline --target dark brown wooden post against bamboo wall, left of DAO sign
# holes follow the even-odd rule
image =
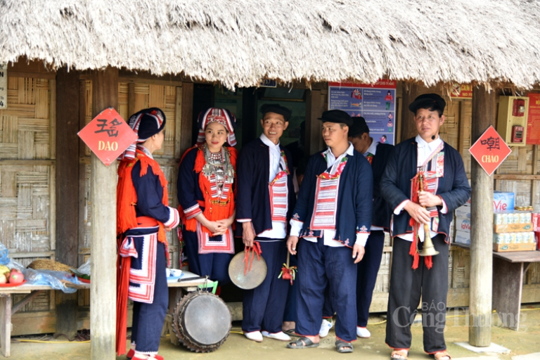
[[[79,248],[79,72],[56,72],[56,261],[78,266]],[[77,293],[56,293],[56,333],[77,333]]]

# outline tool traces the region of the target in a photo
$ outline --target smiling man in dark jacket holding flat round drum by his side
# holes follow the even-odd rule
[[[282,321],[290,283],[278,278],[286,261],[287,226],[295,207],[293,158],[280,145],[290,110],[278,104],[262,105],[262,134],[245,145],[237,162],[236,236],[247,247],[260,245],[268,271],[263,283],[245,290],[242,330],[257,342],[262,337],[289,341]]]

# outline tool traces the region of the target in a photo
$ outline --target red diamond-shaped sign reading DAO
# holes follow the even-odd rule
[[[103,110],[78,135],[107,166],[137,139],[135,131],[114,108]]]

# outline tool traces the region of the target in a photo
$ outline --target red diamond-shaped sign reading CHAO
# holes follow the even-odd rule
[[[499,133],[490,126],[469,149],[470,155],[489,176],[512,152]]]

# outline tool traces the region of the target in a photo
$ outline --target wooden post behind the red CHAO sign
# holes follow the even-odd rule
[[[496,122],[495,92],[484,86],[473,88],[471,144]],[[470,314],[469,343],[491,345],[491,278],[493,268],[493,176],[488,176],[476,160],[471,163],[470,209]]]

